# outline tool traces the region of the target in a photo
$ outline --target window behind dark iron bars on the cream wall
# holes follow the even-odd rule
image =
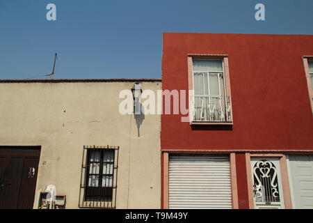
[[[81,208],[115,208],[118,147],[84,146]]]

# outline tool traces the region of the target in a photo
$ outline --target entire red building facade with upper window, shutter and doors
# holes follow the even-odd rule
[[[313,36],[164,33],[163,208],[313,208]],[[305,183],[303,183],[305,182]]]

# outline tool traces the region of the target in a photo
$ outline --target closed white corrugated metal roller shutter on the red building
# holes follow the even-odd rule
[[[232,208],[230,158],[170,155],[169,208]]]

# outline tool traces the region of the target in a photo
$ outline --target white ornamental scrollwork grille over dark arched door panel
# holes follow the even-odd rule
[[[253,167],[255,201],[279,202],[277,168],[273,162],[260,160]]]

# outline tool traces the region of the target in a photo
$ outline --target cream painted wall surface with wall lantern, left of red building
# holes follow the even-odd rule
[[[56,185],[78,208],[83,146],[120,146],[117,208],[161,208],[160,116],[122,115],[118,94],[133,82],[0,84],[0,146],[40,145],[34,208],[41,187]],[[143,82],[143,90],[161,82]]]

